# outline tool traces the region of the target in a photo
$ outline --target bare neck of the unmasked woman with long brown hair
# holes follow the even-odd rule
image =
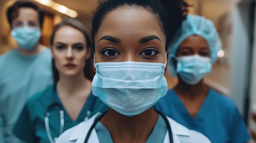
[[[64,91],[64,93],[67,95],[74,95],[75,92],[81,92],[85,90],[90,92],[91,88],[92,82],[84,77],[83,71],[74,76],[66,76],[60,74],[60,79],[57,83],[57,89]]]

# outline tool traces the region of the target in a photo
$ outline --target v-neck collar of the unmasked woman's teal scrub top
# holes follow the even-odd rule
[[[63,110],[64,110],[64,119],[65,121],[70,121],[72,123],[80,123],[81,121],[84,121],[86,115],[87,115],[87,110],[89,110],[90,105],[92,104],[92,99],[93,99],[92,92],[90,93],[90,95],[88,96],[88,98],[86,99],[82,110],[80,111],[78,117],[76,118],[76,121],[73,121],[70,117],[70,115],[68,114],[68,112],[66,111],[65,107],[63,106],[63,104],[61,103],[61,99],[58,97],[58,90],[56,91],[56,103],[60,103]]]

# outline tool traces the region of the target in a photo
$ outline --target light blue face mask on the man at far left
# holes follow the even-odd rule
[[[20,48],[31,50],[40,39],[41,31],[39,28],[23,26],[21,28],[13,28],[11,36],[16,40]]]

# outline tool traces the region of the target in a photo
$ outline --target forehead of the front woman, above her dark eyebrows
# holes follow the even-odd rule
[[[157,35],[165,41],[157,16],[141,7],[119,7],[110,11],[101,21],[95,42],[104,35],[115,37]]]

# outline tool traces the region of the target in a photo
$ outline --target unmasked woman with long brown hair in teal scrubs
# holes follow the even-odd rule
[[[54,85],[27,101],[13,129],[26,143],[54,143],[63,131],[108,110],[91,93],[92,43],[83,24],[63,20],[54,27],[50,44]]]

